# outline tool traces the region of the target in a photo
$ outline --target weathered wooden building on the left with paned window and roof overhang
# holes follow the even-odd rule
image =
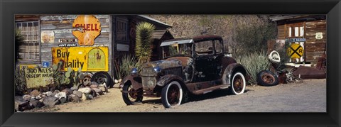
[[[16,65],[42,67],[43,63],[49,63],[51,67],[53,48],[104,46],[109,49],[108,74],[113,77],[113,60],[124,53],[134,54],[136,24],[146,21],[156,26],[157,31],[171,28],[166,23],[143,15],[94,15],[94,20],[98,20],[94,21],[97,24],[80,23],[75,28],[75,19],[78,16],[80,15],[16,15],[16,28],[24,36],[24,42],[18,48]],[[88,19],[82,20],[87,22]],[[80,39],[75,37],[73,31],[82,28],[87,28],[87,31],[100,29],[94,45],[80,45]]]

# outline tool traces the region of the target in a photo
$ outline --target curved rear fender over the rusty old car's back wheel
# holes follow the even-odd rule
[[[224,70],[224,74],[222,76],[223,84],[231,84],[232,74],[237,71],[242,72],[242,74],[244,74],[244,77],[247,77],[247,70],[245,70],[245,67],[243,65],[240,65],[239,63],[232,63],[228,65]]]

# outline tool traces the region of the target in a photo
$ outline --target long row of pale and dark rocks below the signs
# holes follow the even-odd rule
[[[29,94],[14,97],[15,111],[25,111],[43,106],[55,106],[67,102],[81,102],[94,99],[108,92],[107,85],[88,83],[85,87],[71,87],[55,91],[40,92],[33,90]]]

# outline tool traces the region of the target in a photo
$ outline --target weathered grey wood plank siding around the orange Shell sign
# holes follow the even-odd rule
[[[109,48],[109,74],[112,74],[112,23],[109,15],[94,15],[101,23],[101,34],[94,40],[93,47],[107,46]],[[40,43],[41,61],[52,63],[51,48],[58,47],[58,40],[75,38],[72,35],[72,22],[77,15],[53,15],[40,16],[40,33],[43,31],[53,31],[55,33],[54,43]],[[77,43],[77,46],[80,46]],[[80,46],[81,47],[81,46]]]

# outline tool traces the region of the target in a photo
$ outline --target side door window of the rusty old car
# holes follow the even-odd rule
[[[213,40],[206,40],[195,43],[195,53],[197,55],[212,55],[213,52]]]

